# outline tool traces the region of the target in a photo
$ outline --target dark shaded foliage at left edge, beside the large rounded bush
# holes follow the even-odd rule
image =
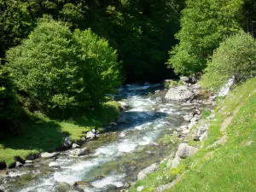
[[[18,102],[9,73],[0,65],[0,136],[1,133],[15,133],[18,125],[15,120],[18,114]]]

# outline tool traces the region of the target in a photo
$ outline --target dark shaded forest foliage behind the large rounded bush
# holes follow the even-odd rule
[[[21,43],[38,18],[51,15],[72,23],[71,29],[91,28],[118,50],[123,73],[131,80],[160,79],[166,70],[168,50],[175,44],[178,18],[184,0],[127,1],[39,1],[0,0],[0,57]]]

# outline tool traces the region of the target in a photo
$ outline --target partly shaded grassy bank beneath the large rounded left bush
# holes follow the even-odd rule
[[[22,125],[23,134],[0,140],[0,162],[5,161],[9,166],[15,162],[15,156],[25,159],[30,154],[53,151],[61,146],[67,136],[76,142],[84,136],[83,131],[101,128],[113,120],[118,114],[118,108],[117,102],[108,102],[76,121],[51,120],[40,113],[32,114],[33,120]]]

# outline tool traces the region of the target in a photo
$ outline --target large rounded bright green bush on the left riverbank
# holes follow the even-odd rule
[[[95,106],[121,83],[116,52],[105,39],[90,30],[71,32],[49,17],[9,49],[7,61],[20,93],[46,112]]]

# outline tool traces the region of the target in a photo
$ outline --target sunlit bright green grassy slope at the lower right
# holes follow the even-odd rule
[[[208,139],[194,156],[183,160],[177,169],[161,165],[158,172],[138,181],[143,191],[154,191],[160,184],[177,177],[172,189],[166,191],[255,191],[256,189],[256,78],[236,87],[224,101],[218,103],[216,118],[211,122]],[[234,115],[234,111],[238,113]],[[227,127],[227,143],[208,148],[223,133],[224,120],[234,115]]]

